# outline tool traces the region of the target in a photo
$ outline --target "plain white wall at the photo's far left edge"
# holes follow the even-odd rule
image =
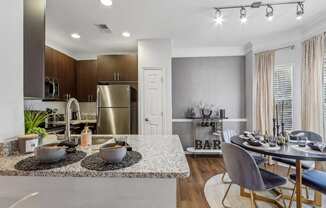
[[[23,1],[1,1],[0,14],[1,142],[24,133]]]

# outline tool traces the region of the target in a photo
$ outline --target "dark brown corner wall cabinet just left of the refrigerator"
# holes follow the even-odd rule
[[[77,99],[81,102],[95,102],[97,85],[97,61],[77,61],[76,79]]]

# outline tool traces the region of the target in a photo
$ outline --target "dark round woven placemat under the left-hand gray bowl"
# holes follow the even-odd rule
[[[35,156],[28,157],[19,161],[15,168],[17,170],[23,171],[35,171],[35,170],[49,170],[53,168],[61,168],[83,159],[87,154],[83,151],[76,151],[75,153],[69,153],[66,155],[66,158],[55,162],[55,163],[42,163],[36,159]]]

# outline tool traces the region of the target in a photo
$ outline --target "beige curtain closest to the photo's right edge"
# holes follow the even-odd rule
[[[302,128],[323,135],[322,74],[324,34],[303,42]]]

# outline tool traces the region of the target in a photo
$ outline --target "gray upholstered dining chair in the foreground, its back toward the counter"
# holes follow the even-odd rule
[[[232,184],[250,190],[251,207],[254,208],[256,207],[255,191],[268,191],[286,183],[285,178],[267,170],[259,169],[249,152],[237,145],[223,143],[222,152],[225,169],[232,181],[222,200],[224,207],[227,207],[224,202]]]

